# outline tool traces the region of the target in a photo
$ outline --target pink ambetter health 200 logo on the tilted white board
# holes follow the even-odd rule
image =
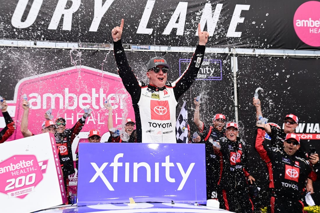
[[[0,192],[23,199],[43,179],[48,160],[38,162],[35,155],[14,155],[0,163]]]

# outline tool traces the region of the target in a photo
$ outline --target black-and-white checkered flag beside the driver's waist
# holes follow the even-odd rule
[[[183,103],[176,122],[177,143],[188,143],[188,111],[186,101]]]

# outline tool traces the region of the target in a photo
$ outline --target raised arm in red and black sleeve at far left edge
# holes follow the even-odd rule
[[[14,121],[12,120],[7,111],[8,104],[6,103],[6,101],[4,100],[0,105],[2,108],[1,112],[5,121],[5,127],[3,128],[3,130],[0,131],[0,144],[2,144],[13,134],[15,126]]]

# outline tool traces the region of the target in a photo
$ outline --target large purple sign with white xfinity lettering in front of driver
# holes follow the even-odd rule
[[[78,205],[205,203],[204,144],[80,143]]]

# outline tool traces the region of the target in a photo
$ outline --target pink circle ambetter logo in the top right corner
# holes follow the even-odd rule
[[[293,17],[296,34],[304,43],[320,46],[320,2],[309,1],[298,7]]]

